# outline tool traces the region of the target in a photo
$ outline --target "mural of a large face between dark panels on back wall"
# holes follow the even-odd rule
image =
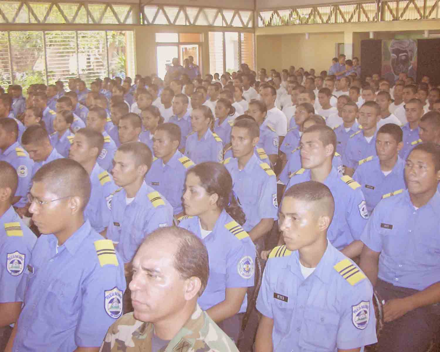
[[[394,83],[399,73],[407,73],[417,81],[417,40],[382,40],[382,77]]]

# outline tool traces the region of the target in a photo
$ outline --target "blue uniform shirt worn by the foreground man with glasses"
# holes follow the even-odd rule
[[[73,351],[99,346],[122,314],[124,265],[111,241],[86,220],[57,248],[41,235],[18,289],[24,306],[13,351]]]

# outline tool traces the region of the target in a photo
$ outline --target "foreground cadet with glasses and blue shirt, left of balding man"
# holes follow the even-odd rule
[[[124,268],[84,220],[89,196],[76,161],[52,161],[33,177],[29,212],[43,235],[18,287],[23,307],[7,351],[98,351],[121,316]]]

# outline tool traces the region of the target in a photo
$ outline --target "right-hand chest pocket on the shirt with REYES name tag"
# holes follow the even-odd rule
[[[333,351],[336,348],[339,315],[322,308],[304,311],[299,345],[310,351]]]

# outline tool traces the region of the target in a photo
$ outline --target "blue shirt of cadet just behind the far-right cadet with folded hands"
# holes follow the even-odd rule
[[[384,194],[406,188],[403,175],[405,162],[397,157],[396,165],[387,176],[381,170],[378,157],[363,159],[356,169],[353,179],[362,186],[362,192],[367,202],[368,213],[380,202]]]

